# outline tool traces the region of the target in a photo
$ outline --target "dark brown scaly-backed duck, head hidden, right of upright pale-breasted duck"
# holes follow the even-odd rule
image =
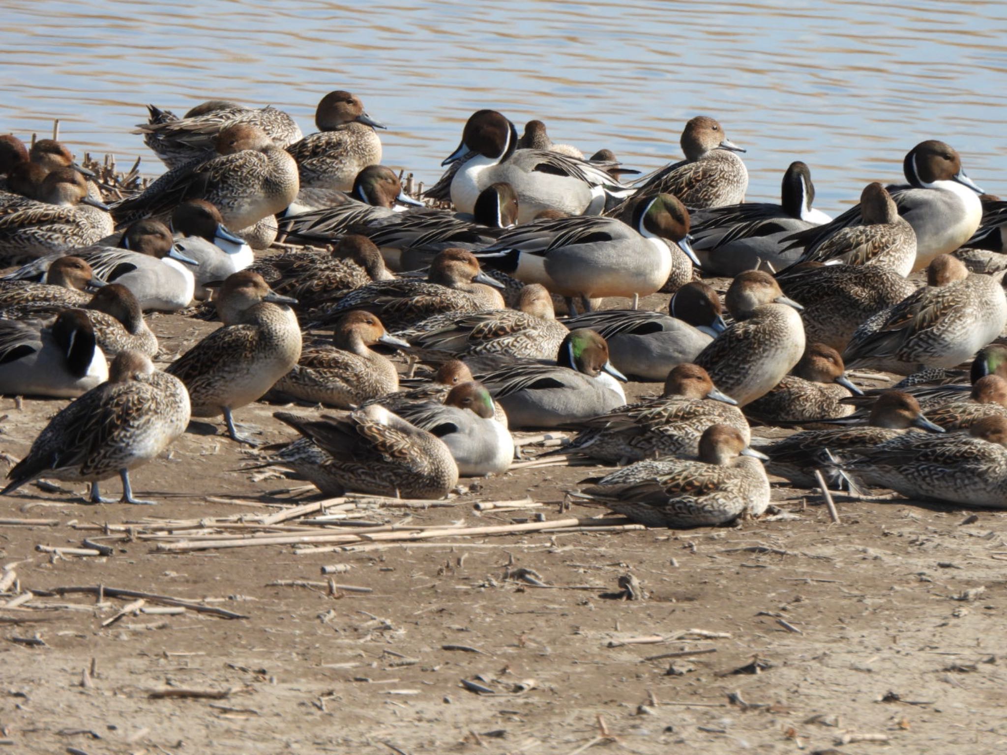
[[[876,265],[803,263],[777,276],[776,282],[784,294],[804,304],[807,339],[838,351],[846,348],[861,323],[916,290],[904,276]]]

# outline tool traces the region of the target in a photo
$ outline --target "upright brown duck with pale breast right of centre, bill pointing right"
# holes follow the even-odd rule
[[[743,407],[767,394],[804,355],[803,307],[759,270],[735,277],[726,303],[734,323],[699,353],[696,363]]]

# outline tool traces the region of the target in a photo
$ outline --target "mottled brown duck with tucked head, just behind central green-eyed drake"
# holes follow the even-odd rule
[[[397,335],[421,348],[455,354],[510,354],[552,359],[569,329],[557,322],[553,300],[536,283],[521,291],[519,309],[444,314],[428,317]]]

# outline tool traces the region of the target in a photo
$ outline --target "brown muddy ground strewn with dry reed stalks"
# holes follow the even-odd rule
[[[151,326],[169,354],[215,327],[177,315]],[[20,458],[63,404],[0,399],[0,451]],[[276,409],[236,414],[276,442],[292,433],[273,420]],[[86,486],[71,483],[0,498],[0,567],[16,573],[0,597],[15,601],[0,605],[0,753],[1007,748],[1005,513],[847,500],[835,524],[816,492],[777,486],[763,520],[688,532],[458,537],[301,555],[289,545],[159,553],[140,539],[99,541],[114,547],[109,557],[36,550],[80,548],[102,537],[92,524],[261,514],[313,499],[300,481],[242,471],[249,453],[219,425],[192,430],[133,474],[157,508],[85,505]],[[479,512],[473,502],[526,496],[548,504],[539,509],[547,519],[602,515],[561,510],[564,491],[598,471],[521,469],[450,507],[367,518],[511,523],[536,511]],[[118,494],[118,482],[103,489]],[[371,592],[332,594],[320,572],[335,565],[344,568],[337,583]],[[643,599],[619,596],[625,575]],[[314,584],[270,586],[277,581]],[[247,618],[145,613],[159,605],[148,601],[103,626],[129,598],[40,594],[99,585]],[[215,698],[151,697],[164,691]]]

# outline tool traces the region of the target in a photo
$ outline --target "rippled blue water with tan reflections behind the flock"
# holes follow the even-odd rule
[[[748,149],[749,199],[778,197],[794,159],[836,210],[904,153],[940,138],[987,191],[1007,193],[1007,5],[390,0],[337,3],[3,3],[0,133],[47,134],[80,154],[160,163],[130,134],[147,103],[272,104],[314,131],[346,89],[389,126],[384,162],[430,183],[478,108],[554,141],[608,147],[651,169],[680,156],[686,120],[712,115]]]

